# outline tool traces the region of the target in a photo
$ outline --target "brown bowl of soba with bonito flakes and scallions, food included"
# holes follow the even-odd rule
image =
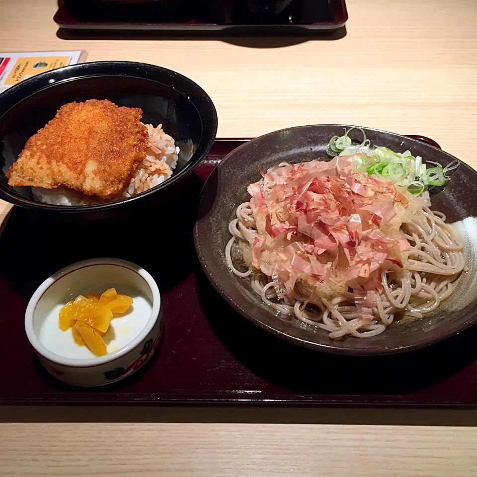
[[[243,317],[320,351],[403,352],[468,328],[477,172],[436,146],[335,124],[245,143],[202,192],[207,277]]]

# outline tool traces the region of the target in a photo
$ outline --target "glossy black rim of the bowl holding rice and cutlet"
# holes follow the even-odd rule
[[[131,73],[122,73],[119,70],[117,72],[107,73],[104,71],[97,71],[97,68],[100,67],[111,67],[115,66],[118,68],[129,67],[135,68],[135,72]],[[141,68],[143,70],[141,70]],[[157,73],[161,74],[169,74],[171,78],[180,79],[184,83],[188,84],[192,88],[199,93],[197,99],[194,99],[189,96],[187,97],[182,93],[180,90],[177,90],[172,85],[164,82],[160,79],[154,79],[154,76],[151,77],[150,75],[145,74],[145,70],[150,70],[154,73],[156,70]],[[60,78],[55,79],[55,77],[61,76],[65,72],[85,72],[87,74],[81,74],[79,76],[70,76],[67,78]],[[141,75],[141,72],[143,73]],[[22,101],[27,100],[29,97],[37,94],[38,92],[49,89],[55,88],[58,84],[62,84],[69,81],[75,81],[78,79],[84,78],[94,78],[94,77],[128,77],[128,78],[138,78],[138,79],[147,79],[150,81],[157,82],[159,84],[163,84],[172,88],[182,97],[186,98],[189,101],[194,109],[196,110],[197,114],[201,118],[201,122],[206,124],[206,131],[203,135],[203,140],[199,141],[198,146],[200,149],[197,148],[194,151],[192,157],[186,162],[184,167],[173,173],[169,178],[161,182],[159,185],[141,192],[138,195],[133,197],[125,197],[124,199],[114,200],[111,202],[105,202],[103,204],[92,204],[92,205],[54,205],[54,204],[47,204],[43,202],[36,202],[34,200],[25,199],[20,197],[16,194],[11,193],[10,191],[6,190],[2,186],[0,186],[0,199],[3,199],[11,204],[18,205],[20,207],[24,207],[27,209],[34,209],[34,210],[42,210],[42,211],[51,211],[51,212],[59,212],[59,213],[66,213],[66,214],[74,214],[78,212],[95,212],[95,211],[102,211],[107,209],[115,209],[121,207],[126,204],[130,204],[135,200],[138,200],[142,197],[148,197],[152,194],[159,192],[159,190],[165,190],[179,182],[185,176],[192,172],[192,170],[199,164],[199,162],[208,154],[212,145],[214,144],[217,128],[218,128],[218,117],[217,117],[217,110],[215,105],[211,99],[211,97],[207,94],[207,92],[195,81],[186,76],[177,73],[176,71],[169,70],[167,68],[163,68],[158,65],[152,65],[150,63],[142,63],[142,62],[134,62],[134,61],[121,61],[121,60],[107,60],[107,61],[95,61],[95,62],[87,62],[87,63],[79,63],[76,65],[67,65],[61,68],[57,68],[55,70],[50,70],[44,73],[40,73],[35,75],[31,78],[24,79],[23,81],[11,86],[10,88],[6,89],[2,93],[0,93],[0,118],[3,117],[8,111],[14,108],[17,104]],[[54,81],[50,82],[51,79]],[[22,95],[21,99],[15,99],[17,95]],[[6,102],[5,102],[6,100]],[[204,109],[203,114],[198,109],[197,102],[200,101],[201,103],[204,102],[204,105],[201,109]],[[5,106],[2,106],[5,104]],[[204,118],[206,119],[203,122]],[[204,129],[204,128],[203,128]],[[208,136],[208,138],[207,138]]]

